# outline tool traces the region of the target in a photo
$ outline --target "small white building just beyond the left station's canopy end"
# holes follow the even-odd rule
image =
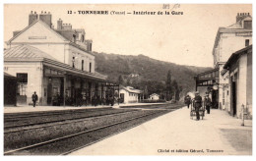
[[[132,86],[120,87],[120,103],[136,103],[139,102],[141,90]]]

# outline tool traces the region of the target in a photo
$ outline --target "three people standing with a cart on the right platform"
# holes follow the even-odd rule
[[[188,109],[189,109],[189,106],[193,103],[193,106],[196,111],[197,120],[200,120],[199,110],[202,106],[204,106],[207,110],[207,113],[210,114],[212,101],[211,101],[211,98],[209,97],[208,93],[205,95],[204,100],[201,97],[199,91],[195,92],[195,97],[193,99],[191,98],[190,95],[187,94],[187,96],[185,96],[185,98],[184,98],[184,103],[187,105]]]

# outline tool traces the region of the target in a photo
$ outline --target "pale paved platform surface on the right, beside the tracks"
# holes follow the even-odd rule
[[[252,121],[212,110],[204,120],[183,107],[70,155],[251,155]],[[210,151],[211,150],[211,151]]]

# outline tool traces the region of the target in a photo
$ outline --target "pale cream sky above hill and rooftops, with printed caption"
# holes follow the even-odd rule
[[[174,4],[169,4],[172,8]],[[108,11],[109,15],[79,15],[78,11]],[[7,5],[4,6],[4,41],[14,30],[28,26],[31,11],[52,14],[56,27],[61,18],[73,28],[85,28],[86,38],[93,39],[96,52],[122,55],[143,54],[179,65],[213,67],[213,46],[219,27],[235,23],[237,13],[252,14],[252,5],[180,4],[162,9],[162,4],[136,5]],[[68,14],[68,11],[77,14]],[[126,15],[110,15],[111,11]],[[163,12],[163,15],[128,15],[133,11]],[[164,15],[165,11],[183,15]]]

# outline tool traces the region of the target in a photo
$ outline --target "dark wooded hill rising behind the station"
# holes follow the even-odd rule
[[[145,55],[126,56],[117,54],[96,53],[96,71],[108,76],[108,80],[121,82],[136,88],[153,92],[164,92],[167,72],[170,70],[171,80],[182,86],[182,93],[195,89],[194,76],[212,68],[183,66],[152,59]]]

